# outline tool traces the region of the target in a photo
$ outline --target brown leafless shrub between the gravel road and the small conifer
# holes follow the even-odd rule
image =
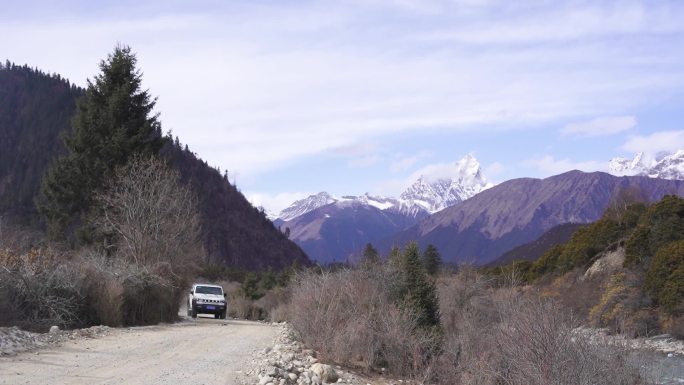
[[[292,289],[290,322],[327,359],[421,376],[436,337],[393,304],[392,274],[386,267],[302,273]]]

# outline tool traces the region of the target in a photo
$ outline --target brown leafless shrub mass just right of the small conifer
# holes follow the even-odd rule
[[[533,290],[493,288],[472,270],[440,284],[436,381],[458,384],[644,384],[621,347],[578,334],[577,319]]]

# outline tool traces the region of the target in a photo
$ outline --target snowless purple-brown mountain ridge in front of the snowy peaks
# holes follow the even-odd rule
[[[376,243],[381,252],[417,240],[434,244],[445,261],[487,264],[565,223],[597,220],[621,190],[650,200],[684,195],[684,181],[570,171],[546,179],[521,178],[487,189]]]

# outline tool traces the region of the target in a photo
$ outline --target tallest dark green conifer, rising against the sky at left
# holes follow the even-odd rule
[[[88,80],[85,96],[64,138],[67,154],[44,175],[38,209],[53,236],[83,223],[94,193],[118,166],[137,153],[156,154],[164,143],[156,99],[141,88],[142,75],[130,47],[117,46]]]

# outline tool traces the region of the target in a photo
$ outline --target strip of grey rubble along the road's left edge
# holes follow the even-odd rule
[[[0,328],[0,356],[33,351],[66,341],[83,338],[100,338],[111,333],[107,326],[93,326],[86,329],[60,330],[57,326],[48,333],[32,333],[17,327]]]

